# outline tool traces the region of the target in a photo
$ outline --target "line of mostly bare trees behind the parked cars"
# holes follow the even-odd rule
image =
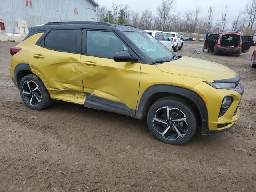
[[[208,6],[207,14],[200,16],[200,7],[183,14],[175,10],[176,0],[161,0],[156,14],[151,10],[132,10],[128,5],[113,2],[111,9],[100,6],[96,12],[98,21],[111,24],[126,24],[141,29],[186,32],[220,33],[226,30],[254,35],[256,28],[256,0],[247,0],[244,10],[238,11],[234,18],[228,16],[228,4],[224,5],[221,15],[216,18],[214,6]]]

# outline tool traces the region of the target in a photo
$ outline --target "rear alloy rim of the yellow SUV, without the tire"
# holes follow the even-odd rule
[[[22,85],[22,95],[31,106],[38,106],[42,100],[42,94],[38,84],[34,81],[25,81]]]

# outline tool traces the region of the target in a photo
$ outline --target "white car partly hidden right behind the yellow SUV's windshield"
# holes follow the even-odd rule
[[[174,51],[174,45],[168,36],[162,31],[154,31],[154,30],[144,30],[151,36],[153,36],[156,40],[160,41],[164,46],[166,46],[172,52]]]

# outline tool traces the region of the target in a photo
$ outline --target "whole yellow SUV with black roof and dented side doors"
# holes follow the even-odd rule
[[[244,88],[226,66],[176,56],[133,26],[53,22],[10,48],[10,75],[26,106],[53,100],[147,118],[160,141],[182,144],[231,128]]]

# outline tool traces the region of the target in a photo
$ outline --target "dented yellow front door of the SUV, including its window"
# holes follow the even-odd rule
[[[114,53],[134,52],[113,31],[83,30],[82,78],[85,106],[134,116],[141,63],[115,62]]]

